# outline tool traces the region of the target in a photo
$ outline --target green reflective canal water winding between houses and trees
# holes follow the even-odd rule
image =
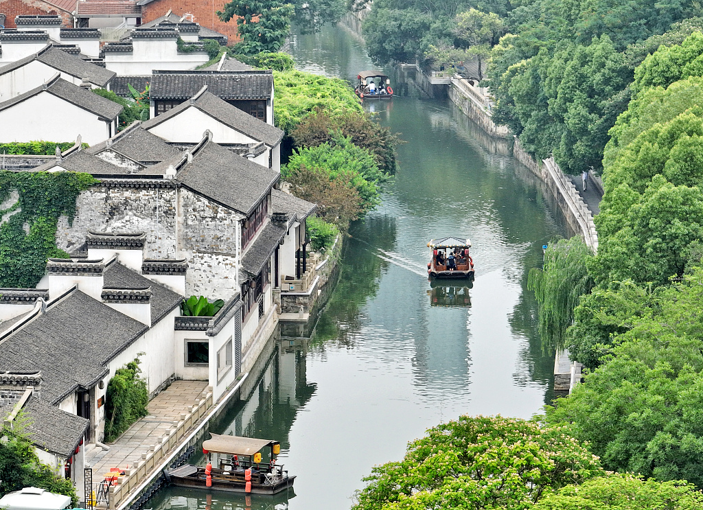
[[[373,68],[343,27],[295,36],[290,51],[302,70],[328,76]],[[529,418],[552,398],[553,357],[541,349],[526,281],[542,245],[565,228],[508,148],[411,79],[394,88],[404,95],[365,106],[405,140],[401,171],[382,205],[352,225],[309,338],[284,331],[252,395],[215,426],[280,440],[295,497],[169,488],[147,506],[348,509],[361,478],[430,426],[460,414]],[[446,235],[472,240],[472,287],[427,282],[426,244]]]

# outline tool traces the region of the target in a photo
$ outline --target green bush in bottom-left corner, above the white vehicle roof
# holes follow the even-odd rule
[[[13,428],[4,428],[0,441],[0,497],[25,487],[37,487],[55,494],[71,497],[77,504],[76,489],[71,480],[65,480],[42,464],[34,452],[34,445],[25,433],[25,417],[20,413],[13,421]]]

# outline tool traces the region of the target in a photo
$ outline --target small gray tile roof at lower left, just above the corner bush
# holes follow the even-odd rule
[[[22,408],[30,419],[27,432],[34,445],[67,459],[73,455],[89,421],[31,397]]]

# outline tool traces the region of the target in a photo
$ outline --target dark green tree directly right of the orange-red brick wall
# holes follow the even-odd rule
[[[288,37],[293,13],[292,4],[280,0],[232,0],[224,4],[224,11],[217,11],[224,22],[237,19],[242,39],[238,48],[246,55],[278,51]]]

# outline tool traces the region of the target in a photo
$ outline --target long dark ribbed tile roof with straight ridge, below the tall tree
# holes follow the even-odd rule
[[[273,93],[271,71],[154,71],[150,96],[155,100],[189,99],[203,85],[224,100],[269,99]]]

